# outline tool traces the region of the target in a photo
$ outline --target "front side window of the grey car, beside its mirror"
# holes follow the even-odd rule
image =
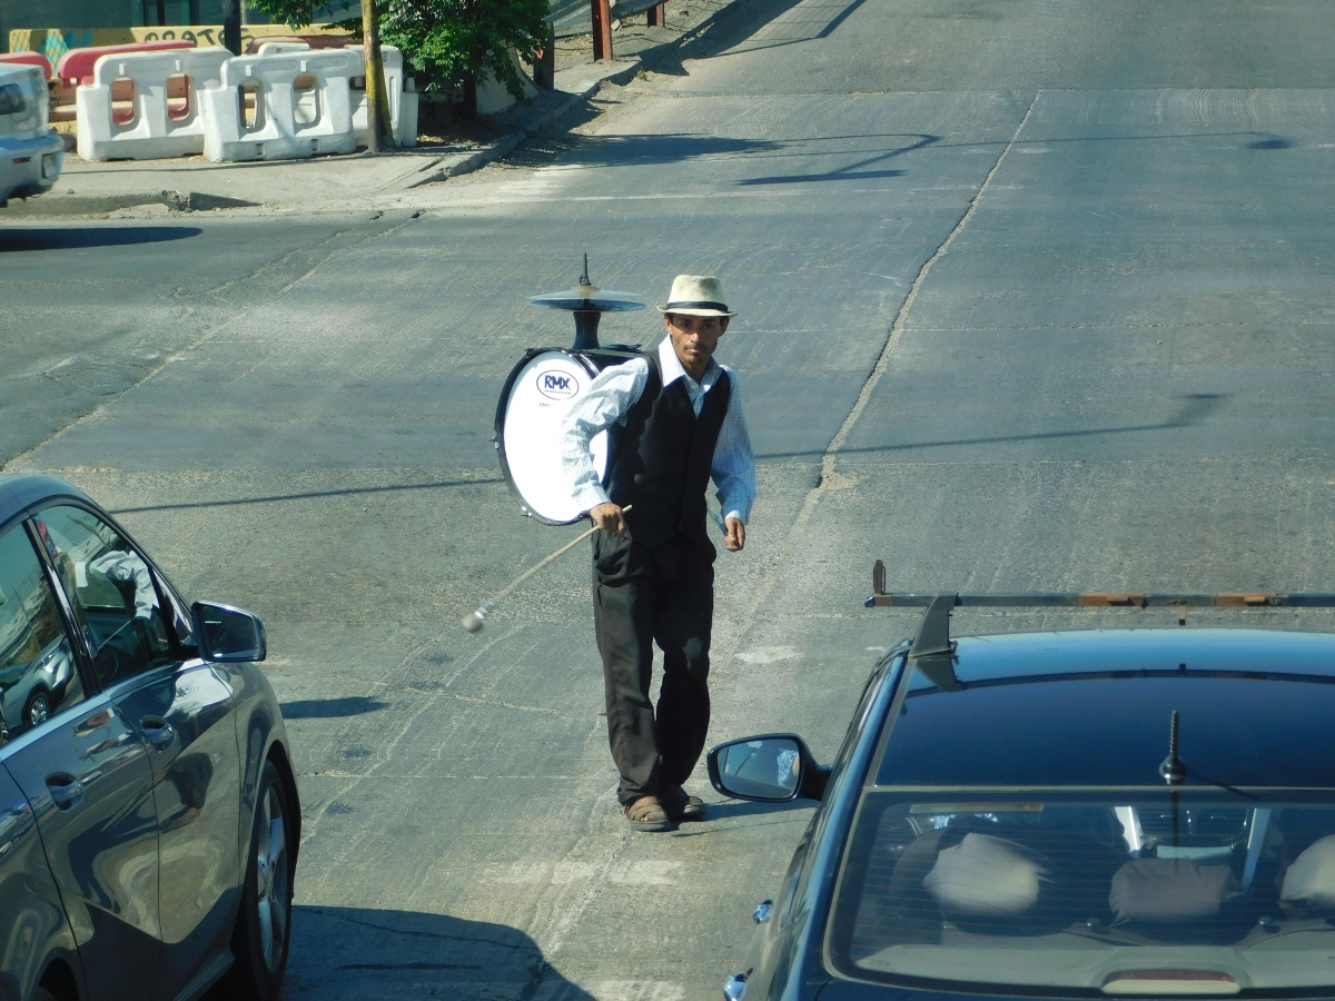
[[[81,507],[48,507],[36,525],[100,685],[180,659],[152,571],[115,529]]]

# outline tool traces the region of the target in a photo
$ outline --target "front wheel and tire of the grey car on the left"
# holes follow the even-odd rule
[[[283,986],[292,936],[291,797],[274,762],[264,762],[246,860],[242,909],[232,932],[228,997],[272,1001]]]

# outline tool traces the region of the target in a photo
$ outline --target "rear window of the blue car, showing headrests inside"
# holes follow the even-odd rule
[[[1330,996],[1335,797],[869,790],[829,929],[841,973],[905,986]]]

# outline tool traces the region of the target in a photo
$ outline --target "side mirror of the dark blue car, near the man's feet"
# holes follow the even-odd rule
[[[830,773],[816,763],[801,737],[788,733],[720,743],[708,762],[709,782],[720,793],[764,803],[820,799]]]

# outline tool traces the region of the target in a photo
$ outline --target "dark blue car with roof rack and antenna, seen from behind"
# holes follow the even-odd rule
[[[709,754],[725,795],[820,801],[729,1001],[1335,997],[1335,635],[949,635],[961,605],[1184,622],[1335,595],[906,603],[930,605],[922,627],[832,767],[793,734]]]

